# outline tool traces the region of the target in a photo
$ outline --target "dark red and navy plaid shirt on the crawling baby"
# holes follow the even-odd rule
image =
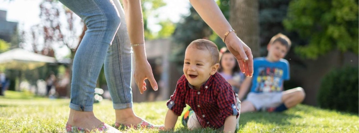
[[[218,73],[210,76],[199,91],[193,89],[185,75],[177,81],[176,90],[167,107],[181,116],[188,104],[202,127],[221,128],[228,116],[239,116],[235,93],[231,85]]]

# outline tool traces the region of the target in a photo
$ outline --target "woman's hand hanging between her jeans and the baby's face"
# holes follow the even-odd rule
[[[135,71],[134,71],[135,82],[138,86],[141,94],[147,90],[145,80],[148,79],[154,91],[158,90],[156,80],[154,80],[150,63],[146,59],[136,59]]]

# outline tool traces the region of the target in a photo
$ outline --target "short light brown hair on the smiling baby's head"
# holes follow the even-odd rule
[[[198,50],[208,50],[208,52],[212,55],[212,65],[220,62],[220,51],[218,51],[218,47],[212,41],[206,39],[196,39],[188,45],[188,47],[191,46]]]

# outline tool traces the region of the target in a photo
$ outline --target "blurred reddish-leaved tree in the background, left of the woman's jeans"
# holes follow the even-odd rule
[[[44,0],[40,5],[41,23],[31,27],[30,35],[33,51],[55,57],[56,48],[67,47],[70,57],[78,46],[78,31],[81,19],[56,0]],[[24,46],[23,46],[24,47]]]

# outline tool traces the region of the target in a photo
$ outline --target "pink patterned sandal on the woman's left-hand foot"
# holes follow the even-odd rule
[[[113,133],[121,132],[112,126],[105,124],[104,122],[102,122],[100,125],[98,125],[98,127],[95,128],[94,130],[99,131],[99,132],[113,132]],[[84,133],[84,132],[90,132],[90,130],[84,129],[81,127],[72,126],[70,124],[66,124],[66,132],[67,133],[74,133],[74,132]]]

